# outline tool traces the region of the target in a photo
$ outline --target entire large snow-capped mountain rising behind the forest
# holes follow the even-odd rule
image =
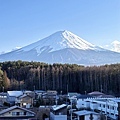
[[[0,55],[0,61],[39,61],[79,65],[120,62],[120,53],[95,46],[69,31],[58,31],[28,46]]]

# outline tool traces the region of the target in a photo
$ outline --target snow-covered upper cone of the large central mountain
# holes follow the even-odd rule
[[[23,47],[22,50],[29,51],[33,48],[37,50],[38,54],[44,50],[51,52],[65,48],[76,48],[81,50],[96,49],[95,46],[91,43],[83,40],[82,38],[67,30],[58,31],[48,36],[47,38]]]

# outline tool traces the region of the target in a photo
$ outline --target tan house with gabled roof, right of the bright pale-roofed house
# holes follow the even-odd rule
[[[15,103],[20,107],[31,108],[33,107],[33,97],[27,94],[23,94],[16,98]]]

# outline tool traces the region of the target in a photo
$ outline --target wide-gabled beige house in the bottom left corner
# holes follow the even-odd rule
[[[19,106],[12,106],[0,111],[0,120],[28,119],[33,118],[34,116],[34,112]]]

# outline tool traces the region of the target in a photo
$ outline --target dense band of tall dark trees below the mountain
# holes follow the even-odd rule
[[[84,67],[76,64],[45,64],[13,61],[0,63],[0,90],[102,91],[120,93],[120,64]]]

